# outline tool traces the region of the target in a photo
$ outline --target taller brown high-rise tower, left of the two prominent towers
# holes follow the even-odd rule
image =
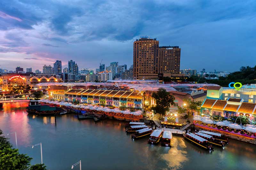
[[[158,78],[158,48],[159,41],[148,36],[140,37],[133,42],[133,78]]]

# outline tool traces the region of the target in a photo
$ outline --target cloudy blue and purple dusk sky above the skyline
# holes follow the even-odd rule
[[[256,65],[255,0],[2,0],[0,68],[133,62],[133,41],[180,46],[180,69]]]

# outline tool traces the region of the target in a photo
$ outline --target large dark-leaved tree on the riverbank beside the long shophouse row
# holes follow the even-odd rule
[[[175,98],[163,88],[153,92],[152,98],[156,101],[156,106],[151,107],[155,114],[165,115],[165,112],[169,110],[170,104],[174,105]]]

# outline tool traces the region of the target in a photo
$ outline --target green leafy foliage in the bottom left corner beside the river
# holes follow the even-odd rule
[[[44,164],[29,167],[32,158],[13,149],[8,138],[2,135],[3,131],[0,129],[0,170],[46,170]]]

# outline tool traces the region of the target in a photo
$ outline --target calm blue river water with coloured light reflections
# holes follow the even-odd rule
[[[68,170],[82,161],[82,169],[256,169],[256,145],[229,140],[223,150],[203,149],[173,136],[172,148],[147,143],[148,137],[132,140],[125,133],[125,123],[116,120],[78,121],[75,114],[42,117],[28,115],[27,103],[4,103],[0,109],[0,128],[15,147],[51,170]],[[79,169],[79,165],[74,169]]]

